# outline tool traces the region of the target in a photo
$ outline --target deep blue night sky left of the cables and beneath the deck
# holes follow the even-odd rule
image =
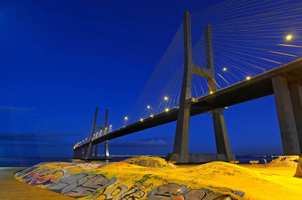
[[[0,157],[71,157],[96,106],[119,125],[183,12],[220,1],[1,1]],[[272,95],[229,107],[224,117],[235,154],[282,154]],[[175,129],[109,141],[109,152],[167,155]],[[211,115],[191,118],[190,152],[216,152]]]

